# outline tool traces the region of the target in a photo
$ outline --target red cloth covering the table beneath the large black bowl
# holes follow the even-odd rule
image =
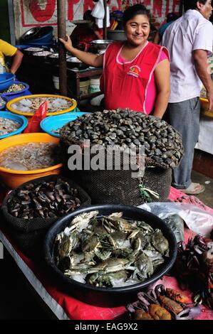
[[[171,188],[170,191],[170,200],[176,200],[180,198],[182,195],[185,195],[180,192],[180,190],[176,190],[175,188]],[[4,235],[6,235],[4,233]],[[193,232],[186,229],[185,230],[185,240],[189,237],[193,236]],[[6,236],[7,239],[10,239]],[[11,242],[12,244],[12,242]],[[16,252],[19,254],[21,259],[27,264],[28,268],[33,271],[33,274],[37,277],[37,279],[41,282],[43,287],[46,289],[47,293],[63,308],[66,312],[68,318],[73,320],[115,320],[116,318],[123,316],[125,311],[125,306],[120,306],[116,308],[100,308],[96,306],[90,306],[86,303],[78,301],[76,298],[72,296],[68,296],[66,293],[60,291],[60,289],[56,289],[51,276],[47,275],[45,271],[41,268],[39,264],[33,262],[28,257],[25,257],[24,254],[20,252],[17,247],[13,245]],[[157,281],[157,284],[164,284],[166,287],[170,287],[172,289],[180,290],[179,286],[177,285],[177,280],[171,276],[163,276],[162,279]],[[183,291],[189,298],[191,297],[190,291]],[[47,297],[46,297],[47,298]],[[45,298],[44,298],[45,301]],[[202,306],[202,313],[197,318],[197,320],[213,320],[213,311],[209,310]]]

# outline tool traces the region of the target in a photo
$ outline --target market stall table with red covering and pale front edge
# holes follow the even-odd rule
[[[0,203],[4,195],[5,194],[1,191]],[[173,201],[180,198],[182,195],[185,194],[181,193],[179,190],[175,190],[175,188],[171,188],[169,199]],[[209,208],[209,212],[213,212],[213,210]],[[185,240],[192,235],[192,231],[188,229],[185,230]],[[0,240],[11,254],[11,257],[13,257],[24,276],[26,276],[26,279],[28,279],[33,289],[38,293],[56,318],[61,320],[116,320],[127,317],[125,306],[115,308],[90,306],[63,293],[63,291],[56,287],[56,282],[54,282],[53,277],[46,272],[46,268],[42,264],[38,264],[26,257],[13,242],[11,242],[9,235],[6,235],[1,225]],[[157,284],[164,284],[165,287],[180,290],[177,285],[177,280],[171,276],[164,276],[160,281],[155,283],[155,285]],[[184,291],[184,293],[189,297],[191,295],[190,291]],[[197,320],[213,320],[213,311],[210,311],[204,306],[201,306],[201,308],[202,313]]]

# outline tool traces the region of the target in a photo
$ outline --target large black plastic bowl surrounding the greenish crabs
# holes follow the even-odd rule
[[[101,215],[110,215],[113,212],[123,212],[123,217],[128,220],[144,220],[152,227],[159,228],[162,230],[163,235],[169,242],[170,257],[168,257],[165,263],[162,264],[157,271],[155,271],[155,274],[153,274],[150,279],[131,286],[119,288],[99,288],[69,279],[56,266],[54,255],[55,237],[69,225],[71,220],[73,220],[76,215],[79,215],[82,212],[90,212],[94,210],[99,211],[99,217],[101,217]],[[70,293],[80,301],[84,301],[90,305],[113,307],[125,305],[126,303],[130,303],[130,301],[136,300],[138,291],[146,290],[148,286],[160,279],[172,268],[177,256],[177,242],[170,227],[150,212],[128,205],[93,205],[88,208],[76,210],[75,212],[57,220],[57,222],[55,222],[47,232],[44,244],[44,254],[48,268],[51,269],[51,273],[55,276],[59,289],[66,291],[66,293]]]

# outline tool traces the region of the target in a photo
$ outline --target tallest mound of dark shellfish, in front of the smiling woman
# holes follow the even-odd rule
[[[147,165],[175,168],[182,158],[181,135],[167,122],[130,109],[104,110],[84,114],[65,124],[60,131],[63,144],[119,145],[145,147]]]

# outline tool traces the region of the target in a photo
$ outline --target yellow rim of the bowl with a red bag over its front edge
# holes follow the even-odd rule
[[[46,114],[47,116],[54,116],[54,115],[65,114],[66,112],[72,112],[77,107],[76,99],[71,99],[70,97],[66,97],[66,96],[63,96],[63,95],[53,95],[53,94],[37,94],[37,95],[24,95],[24,96],[21,96],[21,97],[16,97],[16,99],[11,99],[9,102],[7,102],[6,108],[9,109],[10,112],[14,112],[14,114],[19,114],[19,115],[22,115],[22,116],[32,117],[34,113],[19,112],[18,110],[12,108],[11,104],[19,102],[21,99],[33,99],[35,97],[59,97],[59,98],[66,99],[69,102],[72,102],[72,104],[73,104],[72,107],[70,107],[68,109],[63,109],[60,112],[48,112]]]

